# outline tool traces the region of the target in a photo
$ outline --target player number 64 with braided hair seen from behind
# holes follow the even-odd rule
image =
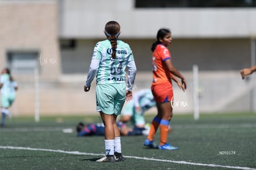
[[[124,161],[116,118],[120,115],[125,100],[132,99],[137,69],[129,45],[117,39],[120,34],[119,23],[106,23],[104,33],[107,39],[96,43],[93,50],[84,91],[90,91],[96,75],[96,110],[100,112],[105,126],[106,157],[100,161]],[[127,83],[126,67],[129,72]]]

